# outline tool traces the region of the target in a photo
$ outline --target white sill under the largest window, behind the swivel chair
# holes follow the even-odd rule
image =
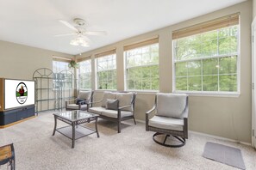
[[[234,93],[209,93],[209,92],[189,92],[189,91],[173,91],[173,94],[189,94],[190,96],[202,96],[202,97],[239,97],[240,92]]]

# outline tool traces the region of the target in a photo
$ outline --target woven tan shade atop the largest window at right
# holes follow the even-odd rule
[[[239,15],[236,13],[233,15],[223,16],[221,18],[206,21],[191,27],[185,27],[172,32],[172,39],[180,39],[190,35],[209,32],[215,29],[220,29],[222,27],[230,27],[239,24]]]

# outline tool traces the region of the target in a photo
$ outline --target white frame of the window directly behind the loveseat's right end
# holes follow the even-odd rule
[[[135,66],[132,66],[132,67],[128,67],[128,55],[127,55],[127,52],[129,51],[133,51],[135,49],[139,49],[139,48],[143,48],[143,47],[146,47],[146,46],[153,46],[153,45],[156,45],[158,46],[158,64],[140,64],[140,65],[135,65]],[[127,91],[134,91],[134,92],[159,92],[159,89],[129,89],[128,88],[128,69],[130,68],[143,68],[143,67],[150,67],[150,66],[158,66],[158,72],[159,72],[159,42],[154,42],[153,44],[147,44],[146,46],[139,46],[139,47],[135,47],[133,49],[129,49],[129,50],[126,50],[123,52],[123,56],[124,56],[124,89],[127,90]],[[141,52],[141,55],[142,55],[143,52]],[[147,52],[148,54],[151,55],[151,52]],[[134,55],[135,56],[135,55]],[[142,77],[140,77],[140,82],[143,82],[142,81]],[[150,78],[152,79],[152,77]],[[158,81],[160,82],[160,81]]]

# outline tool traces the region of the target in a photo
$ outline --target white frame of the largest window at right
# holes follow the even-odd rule
[[[240,17],[239,17],[239,23],[236,25],[238,27],[238,41],[237,41],[237,52],[235,53],[229,53],[225,55],[217,55],[217,56],[212,56],[212,57],[202,57],[202,58],[193,58],[193,59],[187,59],[187,60],[182,60],[182,61],[175,61],[175,46],[174,46],[174,41],[176,39],[172,38],[172,93],[185,93],[185,94],[191,94],[194,96],[216,96],[216,97],[239,97],[240,96]],[[217,28],[215,30],[218,30],[220,28]],[[193,35],[190,35],[193,36]],[[189,37],[189,36],[187,36]],[[175,64],[179,62],[189,62],[189,61],[203,61],[203,59],[211,59],[211,58],[225,58],[225,57],[232,57],[232,56],[237,56],[236,60],[236,65],[237,65],[237,70],[236,70],[236,86],[237,86],[237,91],[235,92],[228,92],[228,91],[203,91],[203,88],[201,91],[190,91],[190,90],[177,90],[176,89],[176,69],[175,69]],[[201,74],[203,76],[203,74]],[[219,76],[219,73],[218,73]]]

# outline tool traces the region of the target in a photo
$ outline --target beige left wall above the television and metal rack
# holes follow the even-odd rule
[[[53,69],[53,55],[72,57],[60,52],[0,41],[0,77],[31,80],[35,70]]]

